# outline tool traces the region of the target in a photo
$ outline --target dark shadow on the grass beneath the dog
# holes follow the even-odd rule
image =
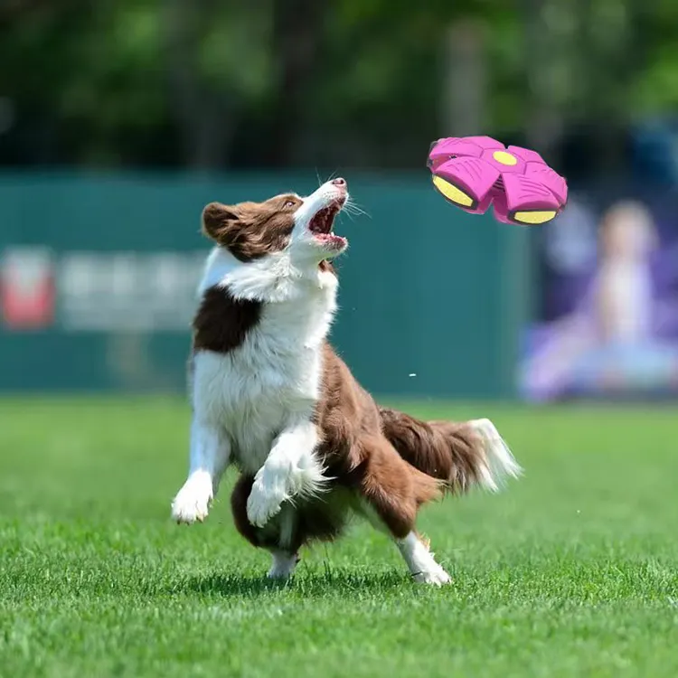
[[[198,594],[201,596],[258,597],[278,591],[294,591],[306,598],[325,597],[336,592],[379,593],[401,589],[410,583],[400,573],[357,573],[346,571],[325,571],[321,574],[298,574],[292,579],[281,581],[265,576],[243,576],[238,574],[208,574],[202,577],[189,576],[178,580],[171,587],[176,594]]]

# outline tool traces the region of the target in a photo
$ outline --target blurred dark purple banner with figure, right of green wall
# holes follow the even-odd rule
[[[678,396],[678,193],[572,192],[535,234],[528,400]]]

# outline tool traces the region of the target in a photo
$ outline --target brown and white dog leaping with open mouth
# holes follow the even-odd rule
[[[472,485],[518,476],[489,419],[423,422],[377,405],[327,343],[336,309],[332,231],[344,179],[306,198],[218,202],[202,212],[216,243],[193,319],[188,478],[179,523],[203,521],[227,466],[240,477],[231,509],[240,533],[287,578],[302,545],[339,536],[352,514],[391,534],[414,579],[447,572],[416,532],[419,507]]]

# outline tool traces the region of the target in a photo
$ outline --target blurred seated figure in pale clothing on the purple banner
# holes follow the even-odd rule
[[[570,313],[540,328],[541,345],[523,363],[532,398],[668,392],[678,344],[656,333],[654,250],[659,239],[642,202],[613,203],[598,225],[598,263]]]

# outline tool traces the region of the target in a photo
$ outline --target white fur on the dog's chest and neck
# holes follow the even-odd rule
[[[223,430],[233,457],[254,473],[280,431],[313,412],[323,342],[335,310],[336,278],[318,272],[315,278],[285,279],[282,285],[268,280],[274,283],[268,286],[264,276],[252,275],[256,270],[250,267],[256,264],[227,263],[229,270],[221,275],[213,268],[206,271],[205,287],[218,276],[231,293],[235,289],[240,297],[262,301],[261,315],[243,344],[230,353],[196,354],[193,408],[198,419]],[[269,268],[270,263],[266,272]]]

